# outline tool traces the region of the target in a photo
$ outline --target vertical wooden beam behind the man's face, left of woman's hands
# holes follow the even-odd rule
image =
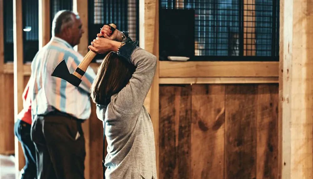
[[[83,24],[83,29],[85,33],[83,33],[82,37],[80,38],[80,44],[74,47],[76,51],[78,51],[81,55],[85,56],[88,49],[88,1],[79,1],[79,0],[73,0],[73,12],[76,12],[80,16],[80,20]],[[96,35],[96,34],[95,34]],[[90,120],[92,117],[90,117],[88,120],[86,120],[82,127],[84,131],[85,136],[85,147],[86,147],[86,158],[85,158],[85,178],[90,178]],[[99,147],[102,146],[99,144]]]

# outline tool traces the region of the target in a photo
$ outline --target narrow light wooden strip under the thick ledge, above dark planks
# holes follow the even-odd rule
[[[195,77],[159,78],[160,84],[240,84],[240,83],[278,83],[278,77]]]

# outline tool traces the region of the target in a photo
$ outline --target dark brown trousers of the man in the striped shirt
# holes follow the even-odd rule
[[[31,129],[38,179],[84,179],[85,138],[81,120],[59,115],[37,116]]]

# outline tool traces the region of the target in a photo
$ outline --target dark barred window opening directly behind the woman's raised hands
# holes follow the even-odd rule
[[[120,31],[128,31],[132,40],[139,40],[139,0],[89,0],[87,45],[104,24],[110,23],[114,23]],[[104,57],[105,54],[98,54],[93,62]]]

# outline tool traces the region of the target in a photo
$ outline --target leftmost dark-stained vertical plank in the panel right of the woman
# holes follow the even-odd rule
[[[159,178],[189,178],[191,86],[160,87]]]

